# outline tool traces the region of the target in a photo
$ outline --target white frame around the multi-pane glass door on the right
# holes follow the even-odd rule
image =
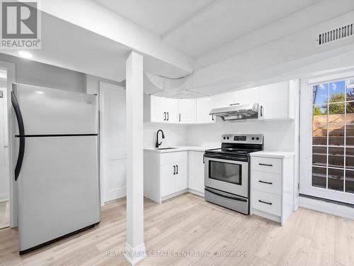
[[[312,86],[321,82],[354,77],[354,72],[322,74],[302,79],[300,96],[299,196],[309,196],[343,203],[354,202],[354,194],[312,187]],[[311,121],[311,122],[310,122]],[[309,140],[309,141],[307,141]]]

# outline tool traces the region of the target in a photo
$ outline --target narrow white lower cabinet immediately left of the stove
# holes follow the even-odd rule
[[[204,194],[204,152],[188,152],[188,189],[190,192]]]

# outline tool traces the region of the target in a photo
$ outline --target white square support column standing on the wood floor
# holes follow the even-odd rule
[[[126,61],[127,89],[127,243],[131,265],[146,257],[143,192],[143,65],[142,55],[130,52]]]

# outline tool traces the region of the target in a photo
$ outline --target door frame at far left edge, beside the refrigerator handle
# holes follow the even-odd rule
[[[14,183],[13,174],[13,111],[11,104],[12,84],[16,82],[16,66],[10,62],[0,61],[0,68],[6,70],[7,83],[7,121],[8,121],[8,177],[9,177],[9,204],[10,204],[10,227],[17,226],[17,200],[16,200],[16,186]],[[6,147],[6,144],[4,145]]]

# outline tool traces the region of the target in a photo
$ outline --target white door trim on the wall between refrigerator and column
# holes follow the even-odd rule
[[[103,175],[103,157],[104,157],[104,148],[103,148],[103,116],[104,116],[104,96],[103,96],[103,90],[102,87],[109,87],[110,89],[119,89],[125,92],[125,87],[122,87],[118,84],[113,84],[113,83],[108,83],[108,82],[102,82],[100,81],[98,83],[98,96],[99,96],[99,133],[100,133],[100,138],[99,138],[99,167],[100,167],[100,187],[101,187],[101,206],[105,205],[104,202],[104,184],[105,184],[105,179]]]

